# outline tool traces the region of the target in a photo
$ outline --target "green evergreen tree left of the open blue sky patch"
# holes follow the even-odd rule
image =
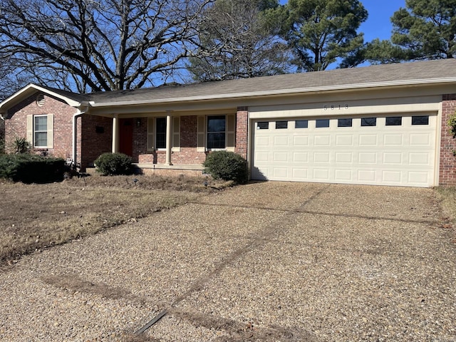
[[[367,17],[358,0],[289,0],[268,13],[270,21],[281,24],[281,36],[293,48],[300,71],[353,64],[363,48],[363,33],[357,30]]]

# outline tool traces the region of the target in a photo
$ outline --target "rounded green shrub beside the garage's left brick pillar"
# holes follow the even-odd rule
[[[247,160],[234,152],[215,151],[207,155],[203,163],[206,172],[215,179],[247,182]]]

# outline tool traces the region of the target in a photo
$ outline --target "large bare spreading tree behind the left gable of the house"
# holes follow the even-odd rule
[[[1,51],[17,74],[46,85],[153,86],[195,51],[195,27],[212,1],[0,0]]]

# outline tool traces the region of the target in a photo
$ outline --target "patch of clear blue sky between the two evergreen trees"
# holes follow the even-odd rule
[[[286,4],[286,0],[279,1]],[[405,7],[405,0],[361,0],[363,6],[368,10],[368,20],[359,28],[364,32],[364,41],[372,41],[375,38],[389,39],[391,36],[390,17],[400,7]]]

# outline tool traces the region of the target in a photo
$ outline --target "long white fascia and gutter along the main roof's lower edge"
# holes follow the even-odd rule
[[[385,81],[385,82],[373,82],[373,83],[354,83],[354,84],[343,84],[336,86],[321,86],[321,87],[308,87],[308,88],[290,88],[290,89],[278,89],[278,90],[263,90],[246,93],[228,93],[228,94],[216,94],[216,95],[198,95],[188,96],[182,98],[159,98],[155,100],[130,100],[120,102],[105,102],[95,103],[90,101],[92,107],[108,107],[108,106],[123,106],[123,105],[147,105],[156,103],[178,103],[188,102],[197,100],[221,100],[229,98],[251,98],[257,96],[270,96],[270,95],[291,95],[297,93],[317,93],[324,91],[335,91],[335,90],[356,90],[366,88],[384,88],[384,87],[398,87],[398,86],[426,86],[432,84],[441,83],[455,83],[456,78],[426,78],[423,80],[405,80],[405,81]]]

